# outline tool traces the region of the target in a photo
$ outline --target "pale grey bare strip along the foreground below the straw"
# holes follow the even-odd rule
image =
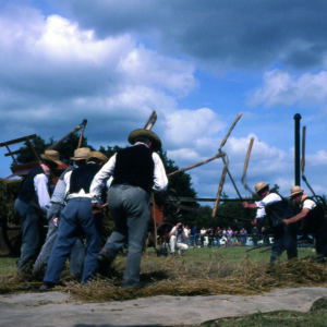
[[[82,303],[61,292],[0,295],[0,326],[172,326],[258,311],[307,312],[327,288],[275,290],[254,296],[154,296]]]

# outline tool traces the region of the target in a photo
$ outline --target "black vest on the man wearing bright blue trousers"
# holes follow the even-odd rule
[[[89,193],[92,181],[96,173],[101,169],[97,164],[86,164],[73,170],[70,180],[69,193],[78,193],[82,189]]]

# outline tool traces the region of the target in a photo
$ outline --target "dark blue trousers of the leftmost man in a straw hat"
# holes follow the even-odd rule
[[[19,261],[19,269],[31,267],[37,257],[41,243],[45,240],[45,228],[39,220],[35,208],[20,201],[15,201],[15,211],[21,217],[22,225],[22,253]]]

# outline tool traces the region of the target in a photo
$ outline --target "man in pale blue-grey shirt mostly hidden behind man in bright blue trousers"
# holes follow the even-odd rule
[[[63,207],[65,206],[64,197],[66,184],[64,181],[64,177],[68,172],[76,169],[77,167],[84,166],[86,164],[86,157],[89,154],[89,147],[81,147],[75,149],[74,157],[71,158],[72,160],[74,160],[74,165],[64,170],[63,173],[60,175],[60,179],[58,180],[58,183],[51,196],[51,205],[47,214],[47,220],[49,225],[47,239],[40,254],[36,259],[33,274],[37,274],[41,270],[44,266],[48,265],[49,257],[58,235],[59,217]],[[77,239],[70,254],[70,268],[72,276],[82,275],[84,259],[85,247],[83,244],[83,240]]]

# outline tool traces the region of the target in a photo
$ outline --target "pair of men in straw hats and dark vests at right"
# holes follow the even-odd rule
[[[318,261],[327,257],[327,220],[325,208],[320,203],[308,197],[304,190],[295,185],[291,189],[290,198],[300,205],[300,213],[293,216],[289,202],[278,193],[271,192],[269,184],[257,183],[255,192],[261,201],[253,204],[243,202],[243,207],[257,210],[253,223],[269,218],[274,235],[271,264],[280,258],[283,250],[287,251],[288,259],[298,257],[298,230],[314,234]],[[299,226],[300,220],[302,221]]]

